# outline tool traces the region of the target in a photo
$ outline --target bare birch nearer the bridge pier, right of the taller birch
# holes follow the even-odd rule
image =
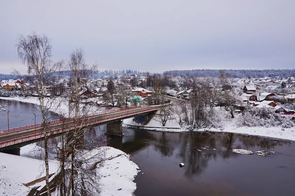
[[[84,131],[88,126],[81,126],[87,123],[87,114],[90,107],[82,104],[81,90],[85,84],[83,78],[87,79],[96,69],[96,65],[89,66],[84,60],[83,49],[76,49],[70,54],[66,70],[70,72],[70,92],[68,95],[68,118],[73,119],[74,126],[63,136],[61,154],[61,180],[59,193],[62,196],[87,196],[89,190],[96,190],[95,172],[88,166],[85,160],[81,159],[83,155],[83,144],[80,140],[84,140]],[[65,128],[67,128],[65,123]],[[91,194],[90,194],[91,195]]]

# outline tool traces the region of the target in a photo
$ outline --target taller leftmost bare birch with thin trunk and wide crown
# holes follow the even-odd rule
[[[27,65],[29,78],[31,78],[31,86],[33,91],[39,98],[43,136],[44,136],[44,148],[45,148],[45,169],[46,169],[46,188],[48,196],[51,196],[49,185],[49,165],[48,165],[48,139],[50,137],[50,131],[48,130],[48,108],[52,106],[52,101],[46,99],[47,92],[45,91],[46,82],[52,81],[53,73],[58,70],[60,64],[53,64],[51,61],[51,49],[49,38],[43,35],[37,35],[32,33],[24,37],[19,35],[17,40],[18,56],[22,60],[22,63]]]

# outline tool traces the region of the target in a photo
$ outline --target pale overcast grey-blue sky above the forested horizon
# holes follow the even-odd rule
[[[149,72],[295,68],[295,0],[0,0],[0,73],[26,73],[18,34],[46,34],[52,60]]]

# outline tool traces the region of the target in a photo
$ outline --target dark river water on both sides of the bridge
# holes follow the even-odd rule
[[[0,105],[8,105],[9,122],[16,126],[33,123],[33,113],[40,115],[33,104],[0,100]],[[40,116],[36,115],[36,121],[41,122]],[[5,126],[7,111],[0,112],[0,129]],[[294,142],[232,133],[162,133],[129,128],[123,128],[125,136],[120,138],[105,136],[105,129],[105,125],[91,129],[85,134],[85,144],[88,148],[108,145],[131,154],[141,169],[135,178],[136,196],[295,194]],[[238,154],[233,148],[254,154]],[[258,150],[268,154],[257,155]]]

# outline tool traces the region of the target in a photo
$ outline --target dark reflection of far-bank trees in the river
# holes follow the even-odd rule
[[[171,157],[175,154],[179,163],[185,163],[184,174],[188,178],[204,172],[210,160],[218,157],[229,159],[240,156],[241,154],[232,152],[233,148],[251,149],[252,147],[260,147],[261,149],[271,149],[290,143],[234,133],[164,133],[127,128],[124,128],[123,132],[125,133],[123,138],[101,134],[98,137],[97,131],[92,129],[88,132],[87,137],[85,136],[88,140],[87,146],[93,148],[97,145],[107,145],[129,154],[135,154],[147,147],[153,147],[162,157]],[[213,148],[217,150],[213,150]]]

